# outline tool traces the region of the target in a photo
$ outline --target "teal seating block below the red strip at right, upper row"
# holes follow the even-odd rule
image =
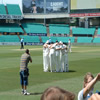
[[[72,28],[73,35],[94,35],[95,28]]]

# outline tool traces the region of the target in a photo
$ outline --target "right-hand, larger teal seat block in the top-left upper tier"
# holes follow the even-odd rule
[[[7,4],[6,6],[9,15],[22,15],[19,5]]]

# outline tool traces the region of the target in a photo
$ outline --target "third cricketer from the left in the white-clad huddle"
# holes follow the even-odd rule
[[[56,72],[60,72],[60,44],[58,41],[55,43],[55,61],[56,61]]]

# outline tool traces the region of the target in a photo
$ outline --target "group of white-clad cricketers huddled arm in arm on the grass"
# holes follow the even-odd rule
[[[43,45],[43,71],[44,72],[68,72],[68,50],[71,48],[70,41],[67,47],[62,41],[55,43],[46,41]],[[71,49],[70,49],[71,52]]]

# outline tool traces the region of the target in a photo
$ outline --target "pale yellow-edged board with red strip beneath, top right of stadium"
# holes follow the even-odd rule
[[[71,0],[70,16],[100,16],[100,0]]]

